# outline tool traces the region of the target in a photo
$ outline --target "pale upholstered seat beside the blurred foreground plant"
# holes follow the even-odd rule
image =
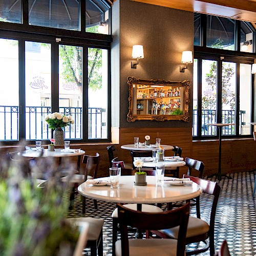
[[[68,221],[74,222],[76,225],[79,225],[79,222],[87,222],[89,224],[88,230],[88,241],[98,240],[101,229],[103,227],[104,220],[91,217],[78,217],[78,218],[69,218]]]

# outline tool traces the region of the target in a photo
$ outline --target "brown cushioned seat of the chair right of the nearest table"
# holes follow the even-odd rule
[[[170,238],[177,239],[179,228],[169,228],[160,230],[162,233],[166,234]],[[196,217],[189,216],[187,224],[186,238],[196,237],[200,234],[205,234],[209,231],[209,225],[207,222],[198,219]]]

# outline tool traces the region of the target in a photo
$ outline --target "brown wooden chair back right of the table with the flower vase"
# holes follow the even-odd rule
[[[82,163],[86,164],[84,168],[84,181],[87,180],[88,175],[92,176],[94,179],[97,178],[99,160],[99,153],[96,153],[96,156],[83,155]]]

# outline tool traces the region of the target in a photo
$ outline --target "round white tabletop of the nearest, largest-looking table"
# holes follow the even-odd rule
[[[109,177],[98,178],[109,180]],[[164,177],[169,180],[170,177]],[[201,187],[194,183],[192,185],[174,186],[169,184],[156,185],[155,176],[146,177],[146,186],[135,186],[134,176],[121,176],[120,188],[111,189],[110,186],[95,186],[82,183],[78,186],[78,192],[82,196],[114,203],[168,203],[180,200],[192,199],[202,193]]]

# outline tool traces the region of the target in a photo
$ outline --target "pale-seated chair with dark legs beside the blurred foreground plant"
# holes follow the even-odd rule
[[[104,220],[99,218],[91,217],[79,217],[79,218],[68,218],[69,222],[74,223],[75,225],[81,225],[82,223],[89,224],[89,230],[87,234],[87,244],[86,247],[91,248],[91,255],[103,256],[103,224]]]

